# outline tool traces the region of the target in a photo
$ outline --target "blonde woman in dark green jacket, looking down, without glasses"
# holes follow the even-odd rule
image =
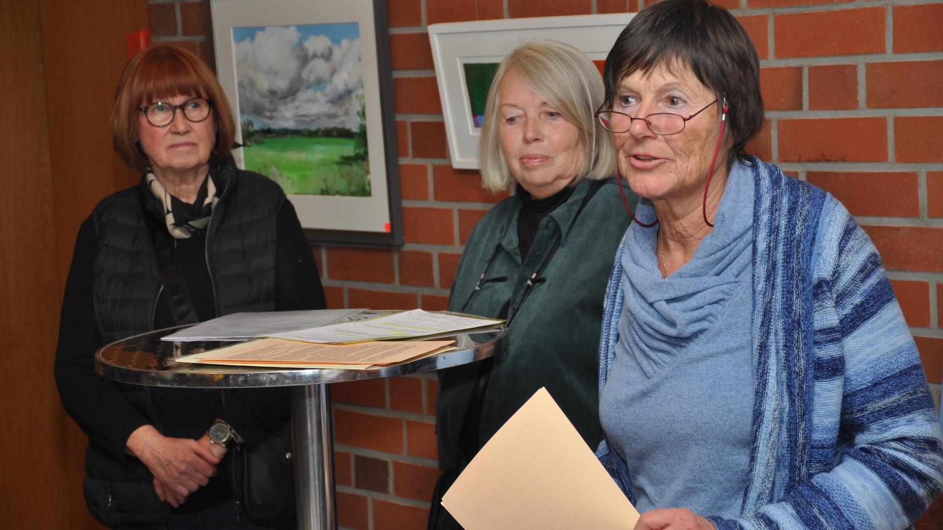
[[[438,374],[443,474],[430,528],[460,528],[438,504],[441,495],[541,387],[587,443],[603,437],[595,355],[600,302],[629,224],[613,215],[621,199],[612,139],[592,115],[603,94],[592,61],[557,41],[515,49],[491,83],[479,145],[482,183],[515,192],[472,230],[449,309],[506,319],[508,335],[493,361]]]

